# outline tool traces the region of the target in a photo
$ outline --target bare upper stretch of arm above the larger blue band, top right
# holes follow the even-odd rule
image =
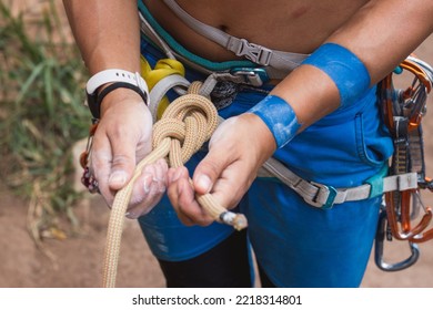
[[[363,7],[329,42],[349,48],[376,84],[433,31],[431,0],[376,0]]]

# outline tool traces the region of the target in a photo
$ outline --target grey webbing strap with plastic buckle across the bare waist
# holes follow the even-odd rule
[[[164,0],[164,3],[195,32],[222,45],[235,55],[244,56],[259,65],[292,71],[308,56],[306,54],[271,50],[245,39],[239,39],[194,19],[174,0]]]

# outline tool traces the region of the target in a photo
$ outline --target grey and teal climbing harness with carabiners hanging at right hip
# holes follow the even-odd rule
[[[164,3],[191,29],[251,62],[246,64],[236,63],[236,65],[226,62],[230,68],[214,68],[213,63],[210,64],[207,60],[189,53],[177,43],[158,24],[145,6],[139,1],[141,30],[145,38],[164,51],[168,58],[179,59],[192,69],[209,75],[205,83],[212,84],[212,87],[218,85],[215,81],[260,86],[270,79],[286,76],[308,56],[306,54],[273,51],[250,43],[245,39],[234,38],[189,16],[174,0],[164,0]],[[383,196],[384,204],[381,209],[375,239],[375,261],[379,268],[383,270],[401,270],[413,265],[420,255],[416,242],[433,237],[432,230],[424,231],[431,220],[432,211],[422,205],[420,197],[420,189],[433,189],[432,180],[425,177],[422,127],[420,124],[425,113],[426,94],[431,90],[433,70],[429,64],[414,56],[409,56],[399,69],[406,70],[415,75],[411,87],[404,92],[394,90],[392,74],[386,76],[377,87],[381,90],[379,96],[382,106],[384,106],[384,120],[390,127],[390,132],[400,135],[394,136],[396,147],[390,169],[387,164],[384,165],[375,176],[365,180],[363,185],[353,188],[334,188],[302,179],[272,157],[264,163],[258,175],[276,177],[303,197],[309,205],[323,209],[332,208],[335,204]],[[210,83],[212,79],[214,81]],[[394,116],[396,116],[395,123]],[[403,125],[404,118],[407,122],[405,125]],[[407,132],[406,138],[403,138],[402,133],[400,133],[404,128]],[[409,161],[406,162],[409,167],[402,169],[401,165],[404,161]],[[407,216],[411,198],[413,208]],[[425,214],[421,223],[411,228],[409,219],[415,218],[415,213],[420,209],[420,206],[425,209]],[[399,230],[399,223],[403,224],[401,230]],[[409,238],[412,254],[410,258],[394,265],[383,260],[384,238],[391,240],[393,235],[396,236],[395,238]]]

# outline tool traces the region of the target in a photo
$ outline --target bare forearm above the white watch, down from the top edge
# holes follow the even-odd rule
[[[63,4],[91,75],[113,68],[140,71],[137,1],[63,0]]]

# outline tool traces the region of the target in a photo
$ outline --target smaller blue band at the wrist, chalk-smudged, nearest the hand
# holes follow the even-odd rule
[[[278,148],[291,141],[301,127],[290,104],[275,95],[264,97],[246,113],[253,113],[262,118],[272,132]]]

